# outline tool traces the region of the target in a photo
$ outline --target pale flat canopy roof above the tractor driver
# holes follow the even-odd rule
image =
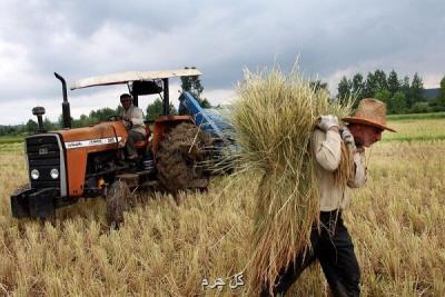
[[[164,71],[127,71],[77,80],[71,85],[71,90],[96,86],[120,85],[135,81],[154,81],[174,77],[190,77],[200,75],[202,73],[194,68]]]

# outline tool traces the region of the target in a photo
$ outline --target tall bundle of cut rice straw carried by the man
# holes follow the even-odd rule
[[[287,76],[277,67],[258,73],[245,70],[233,125],[244,170],[261,175],[255,197],[251,288],[269,284],[271,290],[279,269],[310,244],[319,214],[310,136],[320,115],[340,118],[350,107],[350,100],[330,102],[327,91],[315,90],[296,67]],[[345,146],[342,151],[336,179],[346,186],[350,154]]]

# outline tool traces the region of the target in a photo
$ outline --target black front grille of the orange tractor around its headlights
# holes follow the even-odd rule
[[[40,135],[26,139],[29,179],[33,189],[41,188],[60,188],[60,147],[58,138],[55,135]],[[51,178],[51,169],[56,168],[59,171],[57,179]],[[39,170],[39,178],[32,179],[32,169]]]

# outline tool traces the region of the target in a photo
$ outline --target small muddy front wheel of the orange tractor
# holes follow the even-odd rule
[[[107,222],[116,229],[123,222],[123,211],[128,209],[130,189],[127,182],[115,181],[107,192]]]

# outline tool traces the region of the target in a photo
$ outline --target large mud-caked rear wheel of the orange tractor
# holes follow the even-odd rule
[[[209,143],[208,133],[190,122],[179,123],[165,135],[155,157],[164,188],[174,195],[190,188],[206,189],[209,175],[202,165],[208,159]]]

